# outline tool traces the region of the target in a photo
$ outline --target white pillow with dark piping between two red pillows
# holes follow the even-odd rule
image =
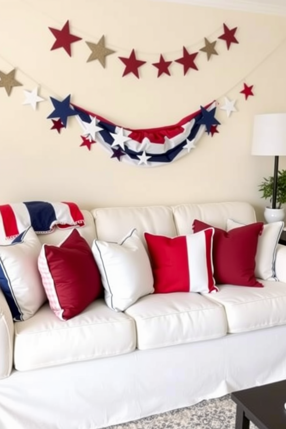
[[[135,229],[120,243],[94,240],[91,250],[108,307],[124,311],[141,296],[154,292],[151,263]]]

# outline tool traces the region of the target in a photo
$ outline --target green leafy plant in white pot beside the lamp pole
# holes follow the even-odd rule
[[[263,178],[259,184],[259,191],[262,192],[262,197],[269,199],[272,202],[274,177]],[[286,203],[286,170],[279,170],[277,176],[277,208],[265,207],[264,217],[266,222],[283,221],[285,217],[283,204]]]

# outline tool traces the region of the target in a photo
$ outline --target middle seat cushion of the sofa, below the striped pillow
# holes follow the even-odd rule
[[[194,292],[140,298],[125,311],[135,319],[138,349],[202,341],[226,335],[222,305]]]

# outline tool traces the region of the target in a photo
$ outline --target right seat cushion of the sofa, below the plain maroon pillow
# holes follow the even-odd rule
[[[286,284],[262,281],[263,288],[220,285],[208,295],[226,310],[228,332],[246,332],[286,324]]]

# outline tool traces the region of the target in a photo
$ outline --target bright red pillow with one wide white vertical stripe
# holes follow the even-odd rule
[[[214,228],[169,238],[145,233],[155,293],[217,292],[212,262]]]

